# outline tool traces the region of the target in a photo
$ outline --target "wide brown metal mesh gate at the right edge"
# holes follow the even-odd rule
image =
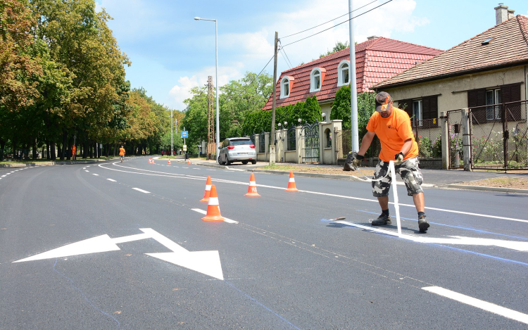
[[[527,104],[470,108],[472,170],[528,169]]]

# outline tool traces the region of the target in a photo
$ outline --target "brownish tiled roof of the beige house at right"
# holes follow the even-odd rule
[[[491,39],[483,45],[484,40]],[[517,15],[375,88],[396,87],[528,61],[528,17]]]

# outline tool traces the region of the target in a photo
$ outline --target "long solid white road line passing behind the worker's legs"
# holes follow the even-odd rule
[[[118,163],[119,162],[112,163],[112,165],[115,165],[115,166],[118,166],[118,167],[130,168],[132,170],[139,170],[139,171],[144,171],[144,172],[154,172],[154,173],[160,173],[160,174],[149,174],[149,173],[142,173],[142,172],[130,172],[130,171],[125,171],[125,170],[115,170],[113,168],[108,168],[108,167],[104,167],[103,166],[103,165],[107,165],[107,164],[101,164],[99,166],[104,168],[105,170],[113,170],[113,171],[126,172],[126,173],[131,173],[131,174],[153,175],[153,176],[158,176],[158,177],[175,177],[175,178],[183,178],[183,179],[199,179],[199,180],[205,180],[206,179],[205,177],[196,177],[196,176],[187,175],[187,174],[175,174],[175,173],[165,173],[165,172],[156,172],[156,171],[142,170],[142,169],[134,168],[134,167],[120,166],[120,165],[118,165]],[[215,182],[225,182],[225,183],[230,183],[230,184],[242,184],[244,186],[247,185],[246,182],[237,182],[237,181],[225,180],[225,179],[215,179]],[[268,186],[268,185],[265,185],[265,184],[257,184],[257,186],[264,187],[264,188],[270,188],[270,189],[284,190],[283,186]],[[313,193],[315,195],[321,195],[321,196],[353,199],[353,200],[356,200],[356,201],[365,201],[365,202],[378,203],[377,199],[368,199],[368,198],[360,198],[360,197],[353,197],[353,196],[344,196],[344,195],[337,195],[335,193],[321,193],[321,192],[318,192],[318,191],[308,191],[308,190],[299,190],[299,192]],[[394,203],[389,202],[389,204],[394,204]],[[400,206],[406,206],[408,208],[415,208],[414,204],[413,205],[410,205],[410,204],[399,204],[399,205]],[[457,214],[463,214],[463,215],[473,215],[475,217],[489,217],[491,219],[501,219],[501,220],[509,220],[509,221],[515,221],[515,222],[528,223],[528,220],[517,219],[517,218],[514,218],[514,217],[499,217],[499,216],[496,216],[496,215],[485,215],[485,214],[481,214],[481,213],[464,212],[464,211],[457,211],[457,210],[448,210],[448,209],[445,209],[445,208],[431,208],[431,207],[428,207],[428,206],[426,206],[425,209],[426,210],[437,210],[437,211],[441,211],[441,212],[457,213]]]

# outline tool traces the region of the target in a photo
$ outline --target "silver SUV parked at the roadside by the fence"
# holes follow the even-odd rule
[[[230,165],[233,162],[257,163],[257,153],[253,141],[247,137],[231,137],[222,142],[218,153],[218,164]]]

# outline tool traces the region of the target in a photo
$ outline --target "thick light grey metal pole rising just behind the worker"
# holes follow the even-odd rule
[[[351,131],[352,131],[352,151],[359,151],[358,132],[358,87],[356,82],[356,42],[354,42],[353,20],[352,20],[352,0],[348,0],[348,32],[350,33],[350,105],[351,105]]]

